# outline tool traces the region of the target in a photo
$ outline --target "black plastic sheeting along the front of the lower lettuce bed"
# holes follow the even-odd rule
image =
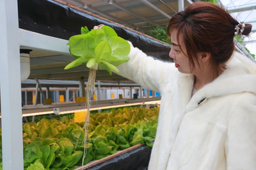
[[[146,170],[152,148],[143,145],[127,151],[100,164],[87,168],[88,170]]]

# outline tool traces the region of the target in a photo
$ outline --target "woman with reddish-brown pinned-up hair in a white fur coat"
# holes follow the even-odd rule
[[[161,92],[148,169],[256,169],[256,64],[233,41],[251,29],[198,2],[168,25],[174,63],[131,45],[120,75]]]

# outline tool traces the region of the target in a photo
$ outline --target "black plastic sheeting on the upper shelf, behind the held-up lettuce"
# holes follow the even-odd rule
[[[53,0],[18,0],[19,27],[43,35],[68,40],[70,36],[81,34],[81,27],[104,24],[113,27],[118,36],[132,42],[154,58],[172,61],[168,56],[171,46],[154,38],[126,29],[109,20],[84,13]]]

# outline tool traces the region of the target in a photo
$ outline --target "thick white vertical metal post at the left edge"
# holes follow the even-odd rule
[[[0,86],[3,169],[23,169],[17,0],[0,1]]]

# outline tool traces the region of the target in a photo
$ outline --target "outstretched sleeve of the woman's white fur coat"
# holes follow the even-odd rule
[[[131,45],[131,52],[129,54],[130,60],[118,66],[120,75],[137,82],[147,89],[152,89],[161,92],[166,82],[172,82],[177,69],[173,63],[164,63],[147,56],[140,49]]]

